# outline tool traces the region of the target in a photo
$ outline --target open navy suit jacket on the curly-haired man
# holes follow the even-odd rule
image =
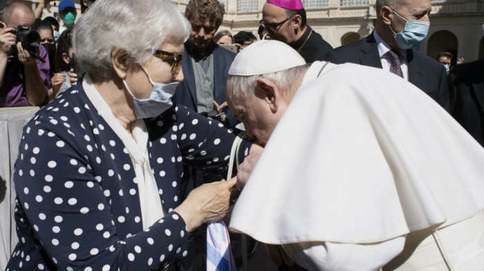
[[[223,104],[225,102],[225,83],[227,82],[230,65],[234,61],[236,54],[215,43],[212,46],[214,46],[214,101],[218,104]],[[196,84],[191,57],[193,48],[194,45],[191,41],[185,42],[183,59],[181,61],[185,79],[177,86],[173,100],[177,104],[182,104],[197,112]],[[229,126],[234,127],[237,124],[237,120],[228,110],[228,106],[223,111],[226,112]]]

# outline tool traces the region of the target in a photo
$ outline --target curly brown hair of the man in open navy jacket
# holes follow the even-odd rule
[[[215,23],[215,28],[222,24],[223,20],[223,3],[217,0],[191,0],[185,9],[185,17],[189,20],[196,14],[203,20],[209,19],[210,23]]]

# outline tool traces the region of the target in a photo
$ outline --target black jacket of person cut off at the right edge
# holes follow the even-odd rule
[[[484,59],[449,73],[451,114],[484,147]]]

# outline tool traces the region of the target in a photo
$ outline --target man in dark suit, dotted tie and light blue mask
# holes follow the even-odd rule
[[[371,35],[335,48],[325,60],[395,72],[449,111],[449,88],[444,66],[415,50],[427,36],[430,0],[377,0],[376,10],[376,29]]]

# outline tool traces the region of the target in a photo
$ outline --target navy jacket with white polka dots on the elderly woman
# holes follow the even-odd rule
[[[122,141],[82,90],[70,88],[24,127],[15,163],[19,243],[6,270],[161,270],[187,254],[183,162],[227,170],[234,132],[183,106],[145,120],[149,162],[167,215],[142,229]],[[241,157],[249,142],[243,142]]]

